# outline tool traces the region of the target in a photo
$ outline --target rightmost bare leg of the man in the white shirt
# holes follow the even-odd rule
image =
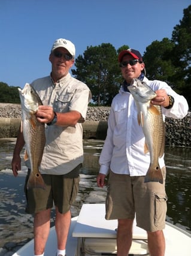
[[[151,256],[165,255],[165,237],[163,231],[147,232],[148,234],[148,249]]]

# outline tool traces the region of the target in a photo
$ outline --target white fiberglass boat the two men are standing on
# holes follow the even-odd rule
[[[117,221],[105,220],[105,204],[83,204],[79,216],[72,218],[66,245],[67,256],[116,255]],[[190,256],[191,234],[166,222],[165,256]],[[55,228],[50,229],[44,256],[56,255]],[[26,243],[13,256],[33,256],[34,240]],[[129,255],[149,255],[147,233],[134,223],[133,242]]]

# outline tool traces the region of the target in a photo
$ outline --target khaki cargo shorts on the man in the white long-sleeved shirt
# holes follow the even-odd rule
[[[166,177],[166,168],[162,168]],[[105,202],[105,219],[134,219],[146,231],[165,228],[167,197],[165,182],[144,182],[144,176],[129,176],[110,171]]]

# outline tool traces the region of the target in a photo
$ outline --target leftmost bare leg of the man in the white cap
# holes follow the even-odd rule
[[[44,252],[48,234],[50,231],[50,210],[43,210],[35,213],[34,217],[34,251],[35,255],[41,255]]]

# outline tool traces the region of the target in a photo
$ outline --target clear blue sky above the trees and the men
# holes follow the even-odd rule
[[[0,82],[10,86],[48,76],[51,46],[71,40],[76,57],[87,46],[127,44],[142,54],[171,38],[190,0],[0,0]]]

